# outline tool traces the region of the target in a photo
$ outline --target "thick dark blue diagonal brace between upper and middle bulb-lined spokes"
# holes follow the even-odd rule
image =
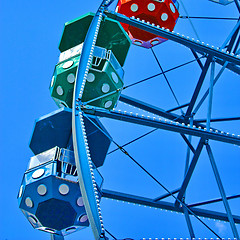
[[[192,96],[192,98],[191,98],[191,101],[190,101],[190,103],[189,103],[187,112],[186,112],[186,114],[185,114],[187,117],[191,116],[191,114],[192,114],[192,110],[193,110],[194,104],[195,104],[195,102],[196,102],[196,100],[197,100],[197,97],[198,97],[198,94],[199,94],[199,92],[200,92],[200,90],[201,90],[203,81],[204,81],[204,79],[205,79],[205,77],[206,77],[206,74],[207,74],[207,71],[208,71],[208,68],[209,68],[209,66],[210,66],[211,61],[212,61],[212,58],[211,58],[210,56],[208,56],[208,58],[207,58],[207,60],[206,60],[206,62],[205,62],[205,64],[204,64],[202,73],[201,73],[201,75],[200,75],[200,77],[199,77],[197,86],[196,86],[196,88],[195,88],[195,90],[194,90],[194,93],[193,93],[193,96]]]

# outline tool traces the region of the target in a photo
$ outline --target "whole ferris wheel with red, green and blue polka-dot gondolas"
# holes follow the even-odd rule
[[[118,239],[104,227],[100,206],[103,198],[181,213],[186,220],[188,237],[192,239],[198,237],[193,218],[211,236],[221,239],[203,217],[229,222],[232,236],[239,239],[236,225],[240,223],[240,216],[232,212],[229,201],[240,195],[226,194],[212,150],[215,142],[219,144],[217,146],[240,146],[240,135],[226,132],[221,125],[240,118],[212,118],[215,84],[225,71],[234,76],[240,73],[239,19],[235,19],[236,24],[222,46],[216,47],[174,32],[178,19],[184,18],[179,12],[181,0],[119,0],[115,11],[110,10],[112,4],[113,0],[103,0],[96,13],[87,13],[64,26],[59,62],[50,83],[51,97],[59,109],[35,122],[29,144],[35,156],[30,159],[20,186],[19,208],[34,228],[59,240],[85,227],[91,227],[95,239]],[[240,12],[238,0],[212,0],[212,4],[222,7],[235,4],[236,11]],[[185,18],[191,19],[189,16]],[[166,41],[184,46],[193,60],[164,71],[154,48],[163,46]],[[131,45],[152,51],[161,72],[124,85],[127,80],[123,68]],[[181,105],[166,75],[193,62],[198,68],[198,78],[188,102]],[[176,107],[163,109],[157,104],[149,104],[145,98],[124,94],[129,87],[157,76],[166,80]],[[126,110],[118,109],[119,104]],[[206,117],[198,119],[197,113],[202,105],[206,108]],[[139,113],[132,109],[138,109]],[[132,123],[131,126],[145,126],[149,132],[122,145],[103,123],[102,119],[106,118]],[[220,127],[214,123],[220,123]],[[159,129],[180,137],[187,149],[185,159],[178,159],[181,163],[184,160],[184,178],[177,179],[179,186],[174,190],[150,173],[144,167],[144,161],[140,164],[126,150],[126,146]],[[157,142],[154,144],[158,145]],[[116,148],[111,150],[110,145]],[[189,201],[187,190],[203,149],[206,149],[205,158],[210,160],[221,197],[194,204]],[[150,198],[105,189],[100,170],[105,158],[117,150],[148,175],[164,194]],[[172,200],[163,200],[168,198]],[[201,207],[217,202],[223,204],[223,211]]]

